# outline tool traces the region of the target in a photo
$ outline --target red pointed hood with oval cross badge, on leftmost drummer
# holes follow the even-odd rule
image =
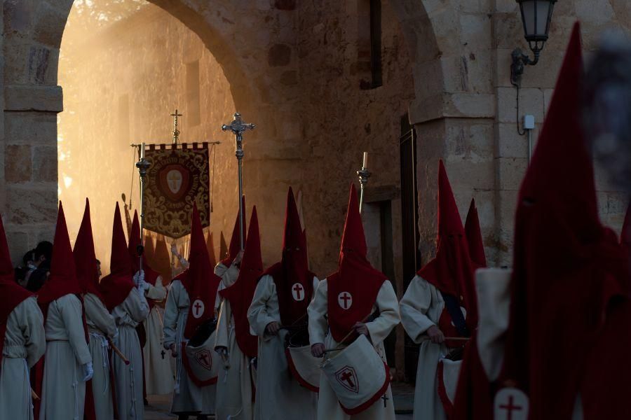
[[[191,338],[199,325],[215,318],[217,288],[222,280],[212,271],[201,219],[195,203],[193,203],[191,216],[189,268],[179,274],[175,280],[182,281],[186,293],[189,294],[191,306],[189,307],[189,316],[186,318],[184,337]]]

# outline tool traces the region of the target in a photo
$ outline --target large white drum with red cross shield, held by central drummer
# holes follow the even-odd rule
[[[365,335],[341,351],[335,351],[321,365],[339,405],[356,415],[379,400],[390,385],[390,370]]]

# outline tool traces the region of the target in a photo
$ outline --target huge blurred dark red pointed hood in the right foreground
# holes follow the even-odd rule
[[[622,291],[611,270],[624,267],[624,258],[615,235],[599,221],[592,159],[582,130],[580,37],[577,24],[515,218],[501,379],[529,395],[529,418],[538,420],[571,417],[605,308]],[[550,349],[562,357],[550,357]],[[616,387],[601,388],[609,393]],[[594,397],[581,393],[584,406]]]

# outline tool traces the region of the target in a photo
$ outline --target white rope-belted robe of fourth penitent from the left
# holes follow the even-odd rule
[[[118,326],[118,349],[130,361],[125,365],[123,360],[112,356],[114,380],[116,381],[116,405],[120,420],[144,419],[142,398],[142,349],[136,327],[149,314],[149,304],[144,293],[137,288],[130,290],[123,303],[111,311]]]

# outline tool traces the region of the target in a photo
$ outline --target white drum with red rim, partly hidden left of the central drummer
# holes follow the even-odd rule
[[[311,356],[309,332],[306,328],[294,330],[285,335],[285,356],[292,377],[300,386],[309,391],[320,391],[320,363],[322,360]]]

